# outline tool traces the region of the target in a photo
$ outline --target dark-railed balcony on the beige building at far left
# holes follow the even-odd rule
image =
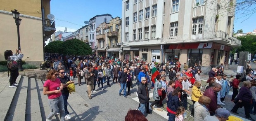
[[[43,19],[44,34],[46,37],[52,35],[55,31],[55,21],[49,19]]]

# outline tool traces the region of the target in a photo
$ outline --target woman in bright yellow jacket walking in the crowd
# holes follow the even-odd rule
[[[199,98],[203,95],[200,91],[200,87],[201,87],[201,82],[196,81],[194,83],[193,88],[192,88],[192,95],[191,95],[191,99],[192,99],[193,104],[198,102]],[[190,116],[194,117],[194,108],[192,108]]]

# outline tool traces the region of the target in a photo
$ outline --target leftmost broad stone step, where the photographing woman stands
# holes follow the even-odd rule
[[[4,100],[1,101],[0,103],[0,119],[4,119],[6,120],[9,109],[11,107],[11,104],[13,102],[14,99],[14,95],[15,92],[17,90],[17,87],[15,88],[10,88],[9,87],[9,79],[10,77],[1,77],[1,83],[0,83],[0,100]],[[21,84],[21,79],[23,79],[23,77],[18,76],[17,77],[17,83]]]

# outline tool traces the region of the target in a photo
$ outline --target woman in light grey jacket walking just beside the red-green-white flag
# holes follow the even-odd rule
[[[152,104],[150,105],[150,107],[151,107],[152,109],[155,109],[153,106],[156,104],[156,107],[157,107],[156,110],[162,112],[163,110],[160,109],[160,105],[159,105],[160,97],[161,97],[161,96],[159,96],[158,90],[163,91],[164,89],[162,88],[162,85],[161,85],[161,82],[160,82],[160,80],[161,80],[160,75],[157,75],[157,76],[156,76],[156,80],[157,80],[157,81],[156,81],[155,84],[154,84],[154,91],[153,91],[153,99],[154,99],[155,101],[152,102]]]

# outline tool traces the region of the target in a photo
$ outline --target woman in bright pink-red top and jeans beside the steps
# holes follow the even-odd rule
[[[43,94],[48,96],[51,112],[47,116],[46,121],[51,121],[52,117],[57,115],[59,109],[59,116],[61,121],[65,121],[64,100],[61,90],[64,88],[58,77],[57,70],[50,70],[46,75],[47,81],[43,85]]]

